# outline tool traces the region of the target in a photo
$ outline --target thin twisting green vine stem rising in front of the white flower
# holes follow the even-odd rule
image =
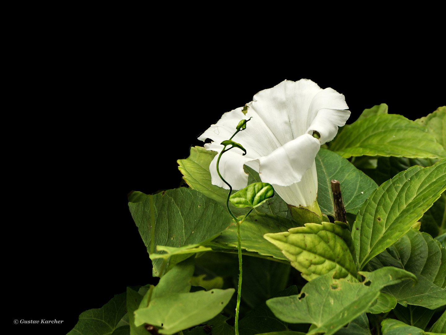
[[[219,174],[219,177],[221,180],[223,180],[223,182],[225,184],[227,184],[227,186],[229,186],[229,193],[227,195],[226,198],[226,208],[227,211],[229,212],[229,214],[231,214],[232,218],[235,220],[235,222],[237,223],[237,246],[238,246],[238,253],[239,253],[239,286],[238,286],[238,291],[237,291],[237,306],[235,307],[235,335],[239,335],[239,312],[240,312],[240,296],[242,294],[242,241],[240,239],[240,225],[242,224],[242,222],[244,222],[244,220],[248,217],[248,215],[252,212],[251,208],[249,210],[249,212],[244,216],[243,219],[239,220],[238,218],[235,217],[235,215],[232,213],[231,209],[229,208],[229,198],[231,197],[231,192],[232,192],[232,186],[226,181],[224,180],[223,176],[220,174],[219,171],[219,163],[220,163],[220,158],[221,156],[226,152],[231,150],[232,148],[239,148],[241,150],[244,151],[243,155],[246,155],[246,150],[244,149],[244,147],[242,147],[239,143],[236,143],[234,141],[232,141],[232,138],[241,130],[244,130],[246,128],[246,122],[248,122],[249,120],[251,120],[251,118],[249,118],[248,120],[242,120],[239,122],[239,124],[237,125],[237,131],[231,136],[231,138],[227,141],[223,141],[221,142],[221,144],[224,146],[223,150],[220,152],[219,158],[217,159],[217,173]],[[226,149],[226,147],[228,145],[231,145],[231,147],[229,149]]]

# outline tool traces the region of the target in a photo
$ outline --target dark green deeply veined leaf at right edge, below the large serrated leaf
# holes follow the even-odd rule
[[[410,229],[395,244],[376,255],[368,268],[396,266],[414,273],[418,278],[416,285],[403,281],[384,288],[383,292],[391,294],[404,306],[409,304],[435,309],[446,301],[446,262],[442,262],[442,251],[444,253],[444,248],[429,234]]]

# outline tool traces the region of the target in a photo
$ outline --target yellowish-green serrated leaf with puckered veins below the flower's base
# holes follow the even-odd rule
[[[333,270],[335,278],[357,281],[353,241],[350,231],[342,226],[306,223],[264,238],[278,247],[307,281]]]

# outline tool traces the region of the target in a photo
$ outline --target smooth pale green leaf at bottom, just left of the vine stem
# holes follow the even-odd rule
[[[215,317],[234,292],[234,289],[212,289],[156,297],[148,307],[135,311],[135,325],[149,323],[159,327],[159,333],[172,335]]]

